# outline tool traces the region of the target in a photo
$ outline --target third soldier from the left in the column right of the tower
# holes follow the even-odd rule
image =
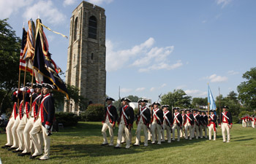
[[[149,123],[151,122],[151,112],[150,109],[146,107],[146,103],[148,101],[145,99],[140,99],[138,104],[140,104],[139,115],[136,121],[138,125],[136,130],[136,142],[133,144],[134,146],[140,146],[140,131],[143,129],[145,135],[144,147],[148,147],[148,129]]]

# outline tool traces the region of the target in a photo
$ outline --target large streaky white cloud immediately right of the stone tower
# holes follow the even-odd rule
[[[174,46],[154,47],[154,43],[154,38],[149,38],[131,49],[115,51],[113,42],[107,40],[107,71],[116,71],[124,66],[138,68],[139,72],[172,70],[183,65],[181,60],[170,63],[170,54],[173,52]]]

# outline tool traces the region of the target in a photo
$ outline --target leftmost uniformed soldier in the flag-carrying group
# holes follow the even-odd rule
[[[7,144],[5,144],[3,149],[11,147],[11,149],[17,149],[18,148],[18,140],[15,140],[15,137],[12,137],[12,126],[14,125],[14,122],[16,120],[16,117],[18,117],[18,90],[16,90],[12,94],[12,102],[14,102],[13,107],[12,107],[12,115],[9,119],[9,122],[6,127],[6,132],[7,132]]]

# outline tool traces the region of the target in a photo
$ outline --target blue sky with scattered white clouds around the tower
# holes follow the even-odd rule
[[[237,93],[255,67],[255,0],[88,0],[105,9],[106,94],[157,101],[182,89],[192,98]],[[69,36],[78,0],[0,0],[0,19],[22,35],[30,18]],[[45,29],[53,60],[67,70],[69,39]],[[64,76],[62,76],[65,79]]]

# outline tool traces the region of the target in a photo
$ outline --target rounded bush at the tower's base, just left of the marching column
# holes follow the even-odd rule
[[[104,119],[104,106],[102,104],[91,104],[86,112],[81,114],[86,121],[102,121]]]

